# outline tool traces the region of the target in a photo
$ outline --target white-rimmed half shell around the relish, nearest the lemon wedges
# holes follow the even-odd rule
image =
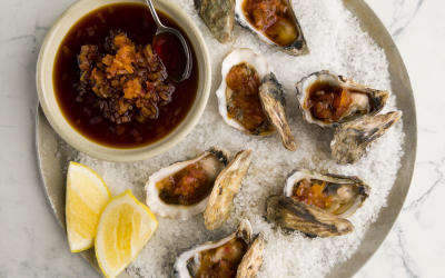
[[[219,147],[212,147],[208,151],[205,151],[202,155],[194,159],[180,161],[154,172],[148,178],[145,187],[147,193],[147,206],[154,214],[164,218],[181,218],[182,220],[187,220],[188,218],[202,212],[207,207],[211,189],[206,197],[192,205],[178,205],[168,203],[165,199],[162,199],[160,197],[161,191],[157,187],[157,183],[162,181],[162,179],[179,172],[191,163],[199,163],[199,166],[207,173],[209,182],[215,182],[218,175],[228,163],[228,159],[229,152],[227,150]]]

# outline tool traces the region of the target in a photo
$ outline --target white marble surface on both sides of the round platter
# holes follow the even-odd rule
[[[412,79],[417,162],[397,224],[355,278],[445,277],[445,1],[366,0]],[[36,62],[73,0],[0,0],[0,277],[98,277],[72,255],[47,203],[34,149]]]

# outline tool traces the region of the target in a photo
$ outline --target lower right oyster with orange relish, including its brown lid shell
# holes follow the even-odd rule
[[[281,228],[318,237],[342,236],[354,230],[345,218],[363,206],[369,191],[355,176],[296,169],[286,179],[284,196],[268,198],[266,215]]]

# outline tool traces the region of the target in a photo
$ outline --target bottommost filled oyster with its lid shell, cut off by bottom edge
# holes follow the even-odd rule
[[[218,277],[226,277],[224,271],[236,271],[237,278],[253,278],[263,264],[264,236],[260,234],[253,241],[251,226],[243,220],[237,230],[219,241],[209,241],[182,251],[176,259],[176,278],[209,277],[208,269],[219,269]]]

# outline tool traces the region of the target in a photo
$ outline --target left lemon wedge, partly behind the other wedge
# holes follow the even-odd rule
[[[107,185],[89,167],[70,162],[67,177],[67,232],[71,252],[95,245],[100,214],[111,199]]]

